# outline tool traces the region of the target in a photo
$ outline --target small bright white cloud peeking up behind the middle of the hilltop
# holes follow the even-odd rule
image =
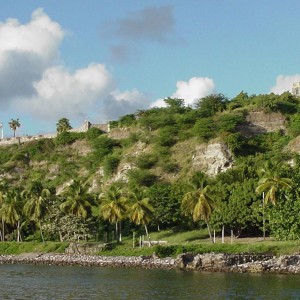
[[[171,97],[183,99],[185,105],[193,105],[195,100],[212,94],[215,83],[208,77],[192,77],[189,81],[177,81],[176,87],[177,90]],[[158,99],[151,107],[166,107],[166,103],[164,99]]]

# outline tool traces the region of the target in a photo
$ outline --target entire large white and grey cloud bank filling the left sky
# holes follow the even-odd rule
[[[105,65],[68,71],[58,65],[61,26],[42,9],[27,24],[0,23],[0,103],[34,119],[56,122],[61,117],[97,122],[111,120],[149,101],[138,90],[119,91]],[[102,119],[101,119],[102,118]]]

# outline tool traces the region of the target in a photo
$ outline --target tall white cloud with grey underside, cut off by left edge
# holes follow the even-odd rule
[[[0,23],[0,103],[5,109],[18,97],[35,93],[33,82],[58,57],[64,32],[42,9],[31,21]]]

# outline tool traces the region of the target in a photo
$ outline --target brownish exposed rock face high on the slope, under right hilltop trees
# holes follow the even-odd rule
[[[271,112],[265,113],[262,111],[250,112],[246,120],[247,125],[238,126],[238,130],[244,136],[253,136],[266,132],[274,132],[278,130],[285,130],[285,117],[281,113]]]

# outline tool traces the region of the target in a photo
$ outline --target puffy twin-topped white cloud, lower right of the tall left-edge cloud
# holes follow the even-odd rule
[[[63,67],[52,67],[34,84],[36,95],[20,100],[18,106],[43,119],[80,118],[94,109],[113,86],[110,73],[100,64],[91,64],[73,74]]]

